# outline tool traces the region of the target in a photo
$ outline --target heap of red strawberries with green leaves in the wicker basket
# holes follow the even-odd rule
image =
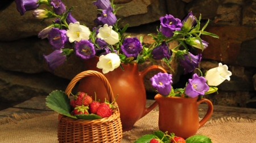
[[[116,99],[116,98],[115,98]],[[55,90],[47,97],[47,106],[59,114],[68,116],[74,119],[93,120],[109,117],[113,114],[113,103],[93,101],[92,97],[84,92],[78,92],[75,99],[71,100],[67,94]]]

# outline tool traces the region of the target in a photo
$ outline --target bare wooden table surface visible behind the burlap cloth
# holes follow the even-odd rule
[[[146,106],[151,105],[154,100],[147,99]],[[155,107],[154,110],[158,110],[158,106]],[[206,104],[201,103],[199,105],[199,117],[203,118],[205,113],[208,110],[208,107]],[[14,107],[10,107],[5,110],[0,111],[0,119],[11,117],[13,114],[53,114],[55,111],[52,111],[46,106],[46,96],[38,96],[33,97],[29,99],[28,101],[25,101],[23,103],[20,103],[19,105],[16,105]],[[234,117],[234,118],[244,118],[244,119],[252,119],[256,120],[256,109],[250,109],[250,108],[243,108],[243,107],[230,107],[230,106],[220,106],[220,105],[214,105],[213,106],[213,114],[210,117],[210,120],[212,119],[220,119],[220,118],[228,118],[228,117]]]

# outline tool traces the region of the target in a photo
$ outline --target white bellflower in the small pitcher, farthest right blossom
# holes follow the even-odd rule
[[[228,66],[222,63],[218,63],[218,67],[212,68],[207,71],[205,79],[208,81],[208,85],[217,86],[220,85],[224,80],[230,80],[232,73],[228,71]]]

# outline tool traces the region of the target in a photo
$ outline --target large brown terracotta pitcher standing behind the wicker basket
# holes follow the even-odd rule
[[[97,62],[98,57],[85,60],[85,69],[102,73],[102,70],[96,67]],[[125,71],[122,71],[118,67],[114,71],[104,74],[104,76],[112,86],[114,96],[118,94],[117,104],[120,111],[122,129],[123,131],[129,131],[133,128],[135,122],[157,106],[157,103],[154,102],[150,107],[145,107],[146,91],[143,84],[144,75],[151,70],[159,70],[161,72],[166,72],[166,70],[163,67],[154,65],[139,72],[136,63],[122,64],[122,66]],[[93,98],[94,92],[96,92],[97,99],[101,101],[105,101],[105,98],[108,99],[104,84],[92,76],[81,79],[78,90],[88,93]]]

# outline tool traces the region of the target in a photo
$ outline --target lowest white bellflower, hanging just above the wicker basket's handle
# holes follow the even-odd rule
[[[102,69],[102,72],[105,74],[119,67],[120,63],[121,60],[117,54],[109,53],[101,55],[100,60],[97,63],[97,68]]]

